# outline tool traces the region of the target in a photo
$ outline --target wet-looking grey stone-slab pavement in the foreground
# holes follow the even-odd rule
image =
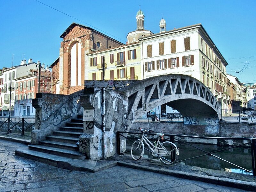
[[[0,191],[182,191],[245,190],[115,166],[96,173],[69,171],[14,156],[26,145],[0,140]]]

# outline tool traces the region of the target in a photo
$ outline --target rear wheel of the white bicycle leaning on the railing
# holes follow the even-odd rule
[[[159,146],[157,154],[159,155],[160,161],[167,165],[174,164],[179,157],[179,151],[176,145],[170,141],[165,141],[162,143],[162,147]]]

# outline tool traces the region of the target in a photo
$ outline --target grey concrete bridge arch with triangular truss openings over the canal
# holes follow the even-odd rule
[[[197,79],[186,75],[163,75],[140,80],[120,91],[128,98],[132,123],[152,108],[166,104],[182,116],[221,118],[221,106],[212,92]]]

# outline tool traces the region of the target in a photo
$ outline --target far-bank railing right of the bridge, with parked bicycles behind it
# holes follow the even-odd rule
[[[252,109],[222,109],[221,116],[224,121],[256,123],[256,111]]]

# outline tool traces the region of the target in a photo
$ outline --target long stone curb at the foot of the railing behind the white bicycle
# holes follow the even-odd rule
[[[169,170],[169,169],[159,169],[159,168],[155,168],[155,167],[148,167],[145,165],[126,163],[123,161],[118,161],[117,165],[129,167],[129,168],[133,168],[133,169],[140,169],[140,170],[144,170],[144,171],[161,173],[161,174],[165,174],[165,175],[172,175],[172,176],[180,177],[183,179],[197,180],[197,181],[203,181],[206,183],[212,183],[212,184],[224,185],[224,186],[233,187],[233,188],[256,191],[256,183],[255,182],[234,180],[234,179],[214,177],[214,176],[208,176],[208,175],[200,175],[200,174],[196,174],[196,173],[188,173],[188,172],[175,171],[175,170]]]

